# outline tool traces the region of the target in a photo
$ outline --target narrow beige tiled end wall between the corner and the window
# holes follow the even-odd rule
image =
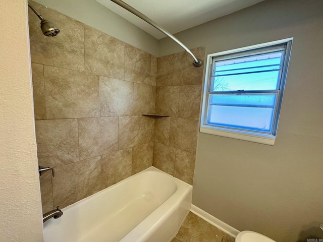
[[[192,50],[204,59],[204,47]],[[193,184],[203,66],[185,51],[157,59],[153,165]]]

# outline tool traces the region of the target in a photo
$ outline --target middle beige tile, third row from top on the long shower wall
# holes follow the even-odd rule
[[[78,119],[80,160],[118,150],[118,117]]]

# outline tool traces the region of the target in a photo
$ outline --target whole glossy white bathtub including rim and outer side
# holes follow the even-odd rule
[[[45,242],[168,242],[189,212],[192,186],[155,167],[64,209]]]

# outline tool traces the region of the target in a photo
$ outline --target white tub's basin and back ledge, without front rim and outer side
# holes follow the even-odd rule
[[[44,224],[45,241],[119,241],[170,200],[179,189],[175,181],[150,167],[64,208],[62,219]]]

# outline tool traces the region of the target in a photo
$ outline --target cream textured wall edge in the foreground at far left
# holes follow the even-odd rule
[[[2,2],[0,238],[8,242],[43,241],[26,22],[27,1]]]

